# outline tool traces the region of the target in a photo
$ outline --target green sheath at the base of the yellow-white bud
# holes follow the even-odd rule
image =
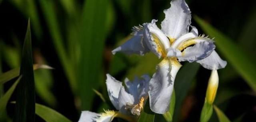
[[[201,111],[200,122],[208,122],[211,116],[212,116],[212,104],[209,104],[205,99],[204,106]]]

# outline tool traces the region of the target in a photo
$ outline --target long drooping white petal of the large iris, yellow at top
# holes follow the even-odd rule
[[[169,110],[170,98],[173,91],[174,79],[181,65],[175,58],[165,58],[158,66],[150,80],[149,99],[153,112],[164,114]]]

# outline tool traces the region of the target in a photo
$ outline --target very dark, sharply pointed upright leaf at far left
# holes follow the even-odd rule
[[[35,121],[35,83],[32,60],[30,20],[22,50],[20,83],[17,86],[16,109],[13,122]]]

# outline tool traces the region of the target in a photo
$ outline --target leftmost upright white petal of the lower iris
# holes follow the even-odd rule
[[[114,77],[107,74],[106,85],[108,89],[108,96],[114,107],[119,110],[118,96],[122,87],[122,82],[117,81]]]

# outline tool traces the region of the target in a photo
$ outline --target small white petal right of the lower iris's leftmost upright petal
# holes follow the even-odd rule
[[[119,105],[119,111],[123,114],[128,114],[127,110],[125,109],[127,104],[134,104],[134,97],[132,94],[129,94],[125,91],[124,87],[121,87],[119,96],[118,96],[118,105]]]

